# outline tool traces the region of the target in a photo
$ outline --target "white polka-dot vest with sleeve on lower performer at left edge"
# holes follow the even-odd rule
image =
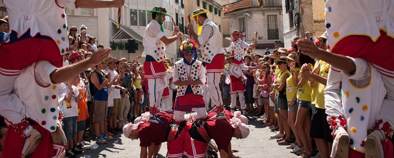
[[[47,61],[33,63],[16,78],[13,92],[13,95],[18,95],[23,102],[26,112],[24,117],[32,119],[50,132],[56,130],[59,116],[57,85],[52,84],[49,77],[55,69],[56,67]],[[20,113],[7,114],[5,118],[20,116]]]

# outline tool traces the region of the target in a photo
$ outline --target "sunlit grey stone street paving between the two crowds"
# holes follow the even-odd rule
[[[250,134],[246,139],[231,140],[232,149],[239,152],[235,156],[242,158],[296,158],[295,154],[290,153],[286,146],[280,146],[276,139],[269,138],[275,134],[268,127],[257,121],[258,117],[249,116]],[[91,142],[92,144],[95,141]],[[166,143],[162,144],[159,156],[165,158]],[[140,147],[139,140],[131,140],[122,135],[115,135],[112,141],[106,144],[99,144],[95,150],[86,150],[78,158],[139,158]]]

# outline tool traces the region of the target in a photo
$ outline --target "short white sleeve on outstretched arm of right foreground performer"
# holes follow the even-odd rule
[[[346,79],[353,79],[353,80],[365,80],[369,79],[371,74],[370,74],[370,67],[369,63],[361,58],[352,58],[352,57],[347,57],[350,60],[353,61],[353,63],[356,66],[356,72],[353,75],[350,75],[346,72],[342,71],[342,75]]]

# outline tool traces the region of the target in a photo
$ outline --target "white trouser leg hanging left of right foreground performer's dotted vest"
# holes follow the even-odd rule
[[[330,70],[328,71],[327,86],[326,89],[324,89],[324,101],[326,105],[328,124],[330,124],[329,121],[331,117],[336,119],[339,116],[343,117],[340,95],[340,82],[342,81],[342,77],[343,76],[340,70],[337,70],[332,66],[330,67]],[[337,125],[339,125],[339,122],[337,122]]]

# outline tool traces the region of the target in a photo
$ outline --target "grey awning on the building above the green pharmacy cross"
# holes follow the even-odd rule
[[[109,19],[112,24],[115,25],[116,27],[116,21]],[[137,32],[134,32],[131,28],[127,27],[126,25],[121,24],[120,25],[120,30],[118,32],[116,32],[112,37],[111,37],[111,41],[114,40],[125,40],[125,42],[127,41],[127,39],[135,39],[136,41],[142,42],[143,37],[141,35],[139,35]]]

